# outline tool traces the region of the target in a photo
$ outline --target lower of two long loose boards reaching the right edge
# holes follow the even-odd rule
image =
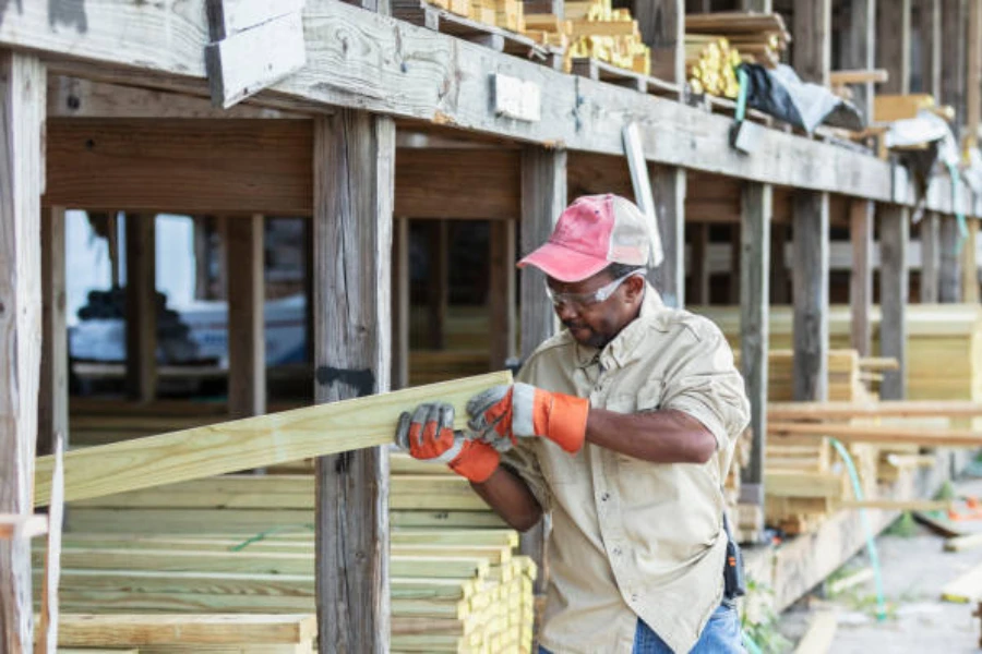
[[[979,447],[982,433],[947,429],[900,428],[879,425],[837,425],[771,422],[767,427],[771,436],[831,436],[848,443],[885,443],[891,445],[917,444],[924,447]],[[780,440],[775,440],[780,445]]]

